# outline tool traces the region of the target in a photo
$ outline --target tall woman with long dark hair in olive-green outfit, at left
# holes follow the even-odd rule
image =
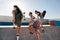
[[[19,7],[17,5],[14,5],[13,8],[14,8],[14,10],[12,11],[13,18],[14,18],[13,21],[14,21],[15,25],[17,25],[16,35],[19,35],[23,14],[22,14],[22,11],[19,9]]]

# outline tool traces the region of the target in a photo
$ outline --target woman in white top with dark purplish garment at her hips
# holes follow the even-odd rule
[[[40,13],[35,11],[35,14],[37,15],[37,19],[34,19],[33,28],[35,29],[35,34],[38,40],[40,40]]]

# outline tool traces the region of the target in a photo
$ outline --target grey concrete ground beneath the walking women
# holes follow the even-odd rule
[[[45,27],[45,33],[40,32],[41,40],[60,40],[60,27]],[[16,40],[13,28],[0,28],[0,40]],[[37,40],[35,35],[29,34],[28,28],[21,28],[20,40]]]

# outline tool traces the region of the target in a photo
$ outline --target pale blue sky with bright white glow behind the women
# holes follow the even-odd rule
[[[60,0],[0,0],[0,15],[12,16],[13,5],[18,5],[26,17],[31,11],[46,10],[46,19],[60,18]]]

